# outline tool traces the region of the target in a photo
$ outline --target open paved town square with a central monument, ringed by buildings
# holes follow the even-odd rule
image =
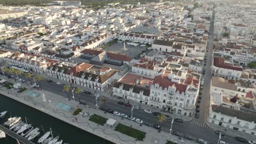
[[[96,49],[101,49],[107,52],[113,52],[113,53],[119,53],[122,55],[128,55],[132,58],[136,58],[139,54],[142,54],[143,52],[147,51],[147,46],[133,46],[133,45],[127,45],[125,43],[125,49],[124,49],[124,43],[114,43],[111,45],[106,46],[100,46]]]

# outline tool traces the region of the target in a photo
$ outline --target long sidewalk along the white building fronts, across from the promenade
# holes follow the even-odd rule
[[[49,79],[49,76],[46,76],[45,74],[40,74],[40,76],[44,77],[44,79]],[[53,80],[54,82],[61,82],[61,83],[64,83],[66,85],[70,85],[70,82],[67,82],[67,81],[64,81],[64,80],[61,80],[61,79],[56,79],[55,77],[51,77],[50,78],[51,80]],[[101,91],[95,91],[95,89],[92,89],[92,88],[89,88],[89,87],[83,87],[83,86],[80,86],[80,85],[76,85],[75,83],[72,83],[72,86],[77,86],[78,88],[80,89],[86,89],[86,91],[90,91],[91,93],[97,93],[97,94],[100,94],[100,95],[103,95],[104,97],[107,97],[109,99],[112,99],[114,101],[120,101],[120,99],[118,98],[115,98],[112,94],[109,94],[110,92],[112,92],[112,87],[109,87],[106,92],[101,92]],[[111,89],[111,90],[110,90]],[[142,103],[138,103],[137,101],[133,101],[133,100],[129,100],[129,99],[123,99],[125,100],[126,103],[129,103],[133,106],[138,106],[140,107],[140,109],[149,109],[149,110],[152,110],[154,112],[160,112],[160,113],[163,113],[164,115],[168,115],[172,118],[180,118],[180,119],[183,119],[183,121],[185,122],[190,122],[190,121],[193,121],[193,118],[191,117],[186,117],[186,116],[181,116],[181,115],[178,115],[176,113],[173,113],[171,114],[170,112],[164,112],[162,111],[161,109],[158,109],[156,107],[152,107],[150,105],[146,105],[146,104],[142,104]],[[193,115],[191,115],[193,116]]]

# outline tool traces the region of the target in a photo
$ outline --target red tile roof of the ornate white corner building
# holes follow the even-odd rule
[[[170,87],[176,87],[176,92],[179,91],[180,94],[182,92],[185,93],[185,91],[187,89],[187,85],[183,85],[182,83],[172,82],[170,79],[168,79],[169,74],[171,74],[171,71],[170,70],[165,70],[164,74],[156,76],[154,81],[153,81],[153,85],[158,83],[159,86],[161,86],[163,90],[165,88],[168,88],[169,86]]]

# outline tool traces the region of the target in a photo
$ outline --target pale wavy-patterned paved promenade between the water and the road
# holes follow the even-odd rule
[[[10,80],[10,82],[14,83],[14,80]],[[42,111],[44,113],[47,113],[48,115],[51,115],[55,118],[58,118],[62,120],[63,122],[67,122],[74,127],[80,128],[82,130],[88,131],[91,134],[97,135],[99,137],[102,137],[103,139],[106,139],[108,141],[111,141],[113,143],[143,143],[143,144],[165,144],[167,141],[173,141],[176,143],[195,143],[193,141],[187,141],[187,140],[179,140],[178,137],[169,135],[168,133],[165,133],[161,131],[161,133],[158,133],[153,128],[147,127],[146,125],[139,125],[136,122],[131,123],[129,119],[122,119],[121,117],[114,116],[110,113],[104,113],[101,110],[96,110],[95,107],[90,106],[84,106],[79,105],[77,101],[74,100],[68,100],[67,98],[62,97],[61,95],[57,95],[48,91],[43,91],[35,88],[31,88],[30,85],[22,84],[23,87],[26,87],[27,90],[18,93],[18,90],[11,88],[8,89],[6,87],[0,88],[0,93],[17,101],[20,101],[23,104],[26,104],[28,106],[33,107],[34,109],[37,109],[39,111]],[[36,92],[39,93],[39,97],[33,98],[29,96],[27,93],[30,92]],[[45,99],[42,95],[45,95]],[[74,116],[73,110],[71,111],[65,111],[62,109],[58,109],[56,107],[59,103],[65,103],[68,105],[71,105],[75,108],[82,109],[83,113],[86,113],[85,115],[76,115]],[[100,115],[105,118],[113,118],[117,120],[117,123],[121,123],[127,126],[132,125],[133,128],[136,128],[138,130],[144,131],[146,133],[146,137],[143,139],[143,141],[137,141],[135,138],[130,137],[128,135],[122,134],[118,131],[115,131],[112,127],[107,127],[106,124],[99,125],[97,123],[89,121],[89,116],[94,115],[97,113],[97,115]]]

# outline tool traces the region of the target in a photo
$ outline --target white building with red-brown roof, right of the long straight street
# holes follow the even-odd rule
[[[240,79],[242,72],[242,67],[235,67],[231,64],[225,63],[223,57],[213,58],[212,73],[214,74],[214,76],[228,79]]]

